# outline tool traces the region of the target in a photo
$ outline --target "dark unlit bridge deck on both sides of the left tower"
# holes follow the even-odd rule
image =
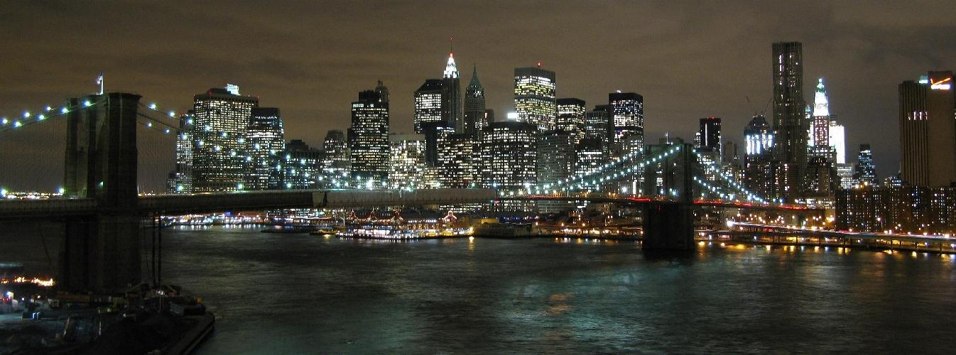
[[[359,208],[482,203],[494,189],[299,189],[140,196],[137,212],[186,214],[272,209]],[[102,211],[92,198],[0,201],[0,220],[49,219]]]

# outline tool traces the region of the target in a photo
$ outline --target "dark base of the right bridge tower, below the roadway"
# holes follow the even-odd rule
[[[692,205],[678,203],[646,205],[643,228],[641,249],[687,251],[697,247],[694,243]]]

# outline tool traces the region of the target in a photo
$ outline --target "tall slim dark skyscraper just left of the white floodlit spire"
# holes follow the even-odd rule
[[[777,168],[778,198],[799,197],[807,165],[806,102],[803,99],[803,50],[800,42],[773,43],[773,158]]]

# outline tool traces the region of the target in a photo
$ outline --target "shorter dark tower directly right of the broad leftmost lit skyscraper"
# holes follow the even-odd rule
[[[278,179],[275,165],[286,150],[282,117],[275,107],[252,109],[249,127],[246,129],[246,186],[245,189],[269,189],[275,185],[270,180]]]

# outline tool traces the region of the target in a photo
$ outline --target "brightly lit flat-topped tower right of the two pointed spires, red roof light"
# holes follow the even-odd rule
[[[537,67],[514,68],[514,112],[518,122],[532,123],[541,131],[554,129],[557,116],[554,72]]]

